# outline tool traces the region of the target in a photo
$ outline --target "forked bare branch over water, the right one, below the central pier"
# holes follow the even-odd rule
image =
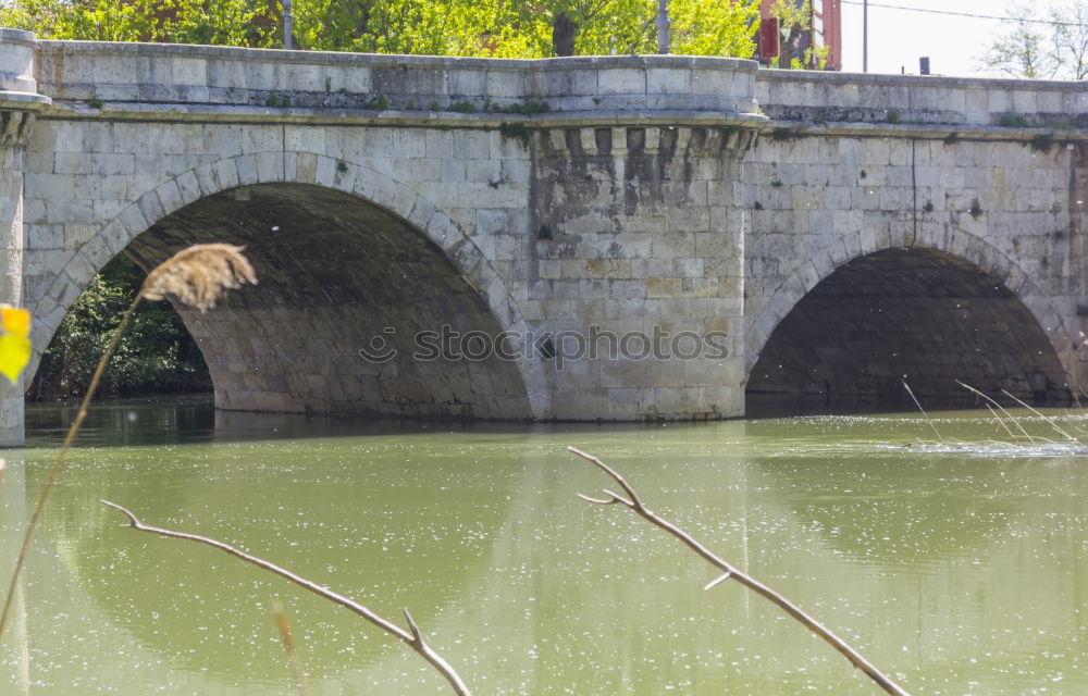
[[[800,621],[802,625],[804,625],[806,629],[808,629],[819,637],[824,638],[824,641],[830,644],[831,647],[833,647],[836,650],[841,652],[843,657],[850,660],[850,662],[854,667],[865,672],[865,674],[874,682],[876,682],[877,685],[883,688],[885,692],[893,694],[894,696],[910,696],[906,691],[904,691],[901,686],[895,684],[895,682],[891,681],[891,679],[889,679],[880,670],[874,667],[868,660],[862,657],[860,652],[857,652],[854,648],[846,645],[846,643],[842,638],[837,636],[830,630],[821,625],[818,621],[816,621],[807,613],[802,611],[800,607],[798,607],[796,605],[794,605],[793,602],[791,602],[786,597],[778,594],[767,585],[764,585],[759,581],[755,580],[747,573],[744,573],[734,568],[733,566],[731,566],[730,563],[726,562],[724,559],[719,558],[714,552],[712,552],[708,548],[706,548],[705,546],[696,542],[694,538],[692,538],[683,530],[659,518],[657,514],[646,509],[639,500],[639,496],[635,495],[634,489],[630,486],[630,484],[628,484],[622,476],[616,473],[616,471],[614,471],[603,461],[601,461],[596,457],[593,457],[592,455],[588,455],[581,451],[580,449],[576,449],[574,447],[568,447],[567,449],[578,455],[582,459],[586,459],[593,462],[594,465],[596,465],[598,469],[601,469],[609,476],[611,476],[616,481],[616,483],[618,483],[620,487],[622,487],[623,490],[627,492],[628,496],[630,497],[630,499],[623,499],[614,493],[605,490],[605,493],[610,496],[609,499],[604,499],[604,500],[594,499],[579,494],[579,496],[582,499],[601,505],[610,505],[615,502],[626,505],[627,507],[634,510],[634,512],[636,512],[640,517],[642,517],[646,521],[651,522],[656,526],[659,526],[660,529],[665,530],[672,536],[683,542],[684,545],[687,545],[693,551],[702,556],[708,563],[710,563],[718,570],[722,571],[722,575],[717,577],[709,584],[707,584],[704,589],[709,589],[710,587],[714,587],[715,585],[726,580],[735,580],[737,582],[744,585],[749,589],[752,589],[755,593],[763,595],[765,598],[767,598],[768,600],[777,605],[779,608],[781,608],[786,613],[790,614],[791,617]]]

